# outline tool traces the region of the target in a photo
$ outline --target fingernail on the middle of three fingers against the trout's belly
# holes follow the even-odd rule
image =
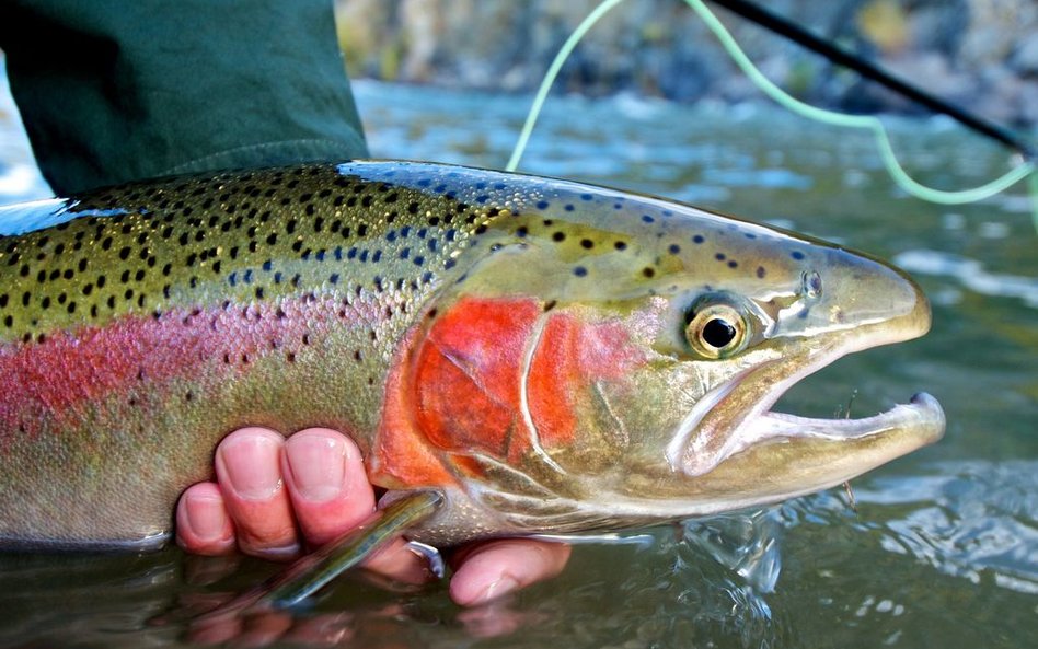
[[[224,442],[217,457],[217,470],[223,470],[220,482],[228,480],[234,494],[245,500],[268,500],[281,488],[279,447],[279,440],[267,437]]]

